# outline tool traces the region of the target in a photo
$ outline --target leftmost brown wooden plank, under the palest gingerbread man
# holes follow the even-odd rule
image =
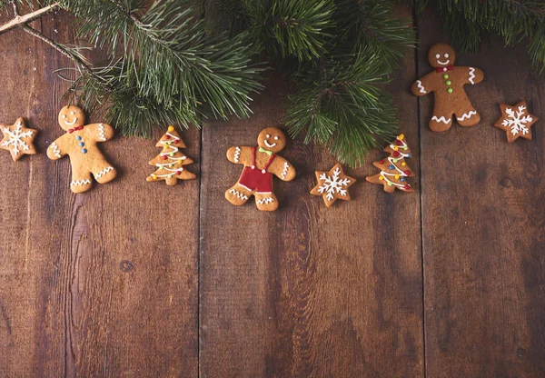
[[[68,20],[34,26],[66,42]],[[22,31],[1,39],[0,120],[40,134],[39,154],[0,154],[0,376],[195,376],[198,180],[146,183],[155,141],[118,136],[100,146],[118,178],[72,194],[68,157],[45,155],[63,133],[52,72],[71,64]],[[199,136],[183,133],[195,172]]]

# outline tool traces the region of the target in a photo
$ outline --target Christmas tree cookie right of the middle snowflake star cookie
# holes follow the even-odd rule
[[[407,184],[407,177],[413,177],[414,172],[405,162],[406,157],[411,157],[411,150],[405,143],[405,136],[400,134],[393,143],[384,148],[384,152],[389,153],[390,156],[373,163],[381,170],[381,173],[367,176],[365,179],[372,184],[384,185],[384,192],[393,193],[395,189],[414,192],[412,186]]]

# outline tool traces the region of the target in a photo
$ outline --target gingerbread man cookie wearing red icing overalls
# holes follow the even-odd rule
[[[259,210],[273,211],[278,200],[272,192],[272,175],[282,181],[295,178],[295,168],[282,156],[277,155],[286,145],[282,130],[267,127],[257,138],[258,147],[231,147],[227,159],[243,164],[243,174],[238,182],[225,192],[225,198],[237,206],[245,204],[253,195]]]

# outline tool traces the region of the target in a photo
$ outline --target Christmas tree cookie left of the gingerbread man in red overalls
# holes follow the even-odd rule
[[[167,185],[175,185],[178,180],[191,180],[196,177],[195,174],[183,169],[183,165],[192,164],[193,160],[180,152],[180,148],[185,148],[185,144],[174,126],[168,126],[168,131],[155,147],[161,147],[163,151],[150,161],[149,164],[157,167],[157,170],[145,179],[147,182],[164,180]]]

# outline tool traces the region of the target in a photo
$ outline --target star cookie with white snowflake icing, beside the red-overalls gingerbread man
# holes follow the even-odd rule
[[[318,184],[312,188],[311,194],[322,195],[327,207],[338,199],[350,201],[348,188],[356,182],[356,179],[344,174],[341,164],[335,164],[329,171],[316,171],[316,179]]]

